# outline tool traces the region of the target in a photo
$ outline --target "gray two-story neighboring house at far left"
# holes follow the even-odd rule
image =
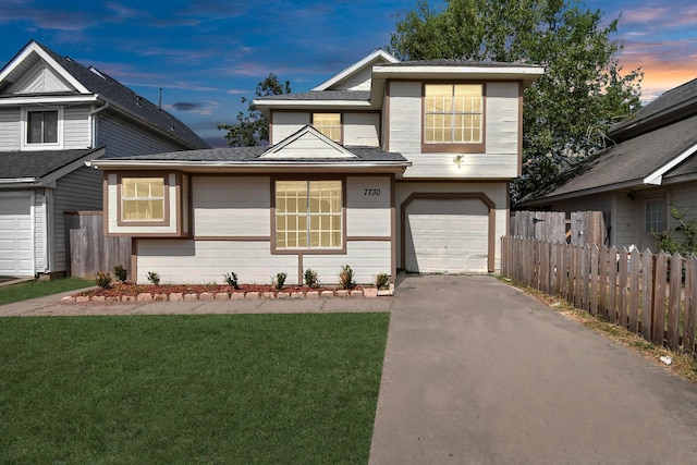
[[[181,121],[95,68],[29,41],[0,70],[0,276],[61,276],[64,212],[101,210],[85,162],[209,147]]]

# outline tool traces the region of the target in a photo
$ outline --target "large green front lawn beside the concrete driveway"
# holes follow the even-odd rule
[[[367,463],[389,319],[0,318],[0,463]]]

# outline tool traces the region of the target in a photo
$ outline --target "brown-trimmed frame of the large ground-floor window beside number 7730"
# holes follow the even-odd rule
[[[279,247],[278,245],[278,222],[279,213],[277,212],[277,184],[279,182],[303,182],[307,186],[307,206],[309,207],[309,184],[311,182],[327,182],[334,181],[341,185],[341,211],[338,213],[330,213],[333,217],[339,217],[341,221],[341,240],[337,247],[313,247],[310,246],[310,217],[313,213],[306,210],[305,218],[307,218],[307,246],[306,247]],[[313,179],[298,179],[295,176],[280,176],[274,178],[271,182],[271,254],[274,255],[331,255],[331,254],[346,254],[346,178],[338,176],[321,176]],[[320,216],[315,213],[314,216]]]

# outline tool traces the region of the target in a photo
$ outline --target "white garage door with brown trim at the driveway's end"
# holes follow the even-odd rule
[[[414,199],[405,212],[407,271],[488,271],[489,209],[481,200]]]

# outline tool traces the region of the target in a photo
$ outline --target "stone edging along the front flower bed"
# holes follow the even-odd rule
[[[66,304],[84,304],[88,302],[193,302],[193,301],[259,301],[259,299],[301,299],[301,298],[356,298],[356,297],[377,297],[378,295],[392,295],[393,291],[378,291],[375,287],[363,290],[335,290],[335,291],[308,291],[303,292],[201,292],[196,293],[162,293],[155,294],[150,292],[142,292],[138,295],[110,296],[105,295],[78,295],[61,298]]]

